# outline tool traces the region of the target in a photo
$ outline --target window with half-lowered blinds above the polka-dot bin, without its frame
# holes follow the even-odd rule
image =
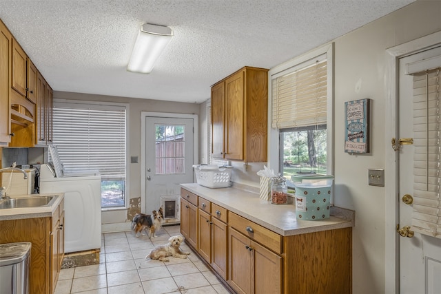
[[[271,127],[279,132],[279,167],[292,174],[327,174],[327,54],[271,76]]]

